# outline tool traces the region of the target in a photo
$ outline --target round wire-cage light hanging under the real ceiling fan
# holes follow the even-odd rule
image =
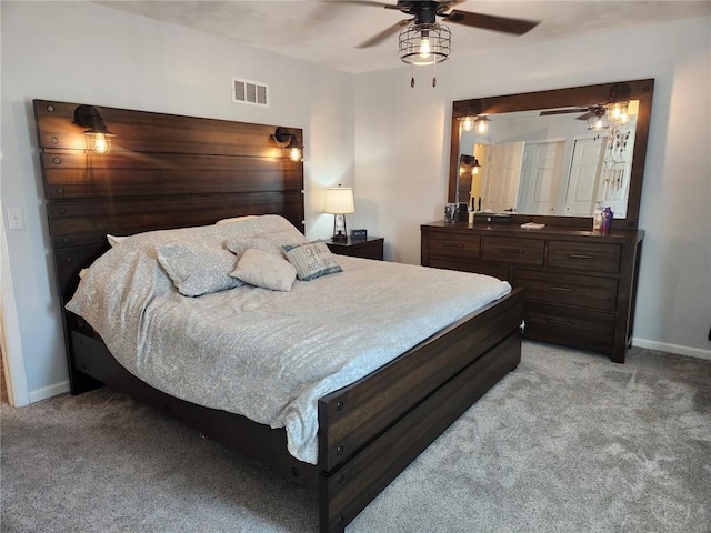
[[[441,63],[451,51],[451,32],[444,24],[412,23],[400,31],[399,56],[410,64]]]

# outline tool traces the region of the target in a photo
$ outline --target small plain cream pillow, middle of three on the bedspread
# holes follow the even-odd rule
[[[242,253],[230,275],[250,285],[289,292],[297,279],[297,269],[283,258],[250,248]]]

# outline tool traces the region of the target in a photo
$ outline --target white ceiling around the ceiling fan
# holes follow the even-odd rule
[[[383,1],[397,3],[395,0]],[[339,0],[96,0],[93,3],[352,73],[401,64],[397,34],[373,48],[356,47],[399,20],[409,18],[400,11],[379,6],[358,6]],[[465,1],[455,9],[540,20],[541,23],[521,37],[450,23],[451,57],[711,14],[711,1],[498,0]]]

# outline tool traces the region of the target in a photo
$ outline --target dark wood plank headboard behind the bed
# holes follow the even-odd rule
[[[33,104],[62,306],[80,269],[108,249],[107,233],[266,213],[303,231],[303,163],[272,139],[276,125],[97,105],[116,134],[99,155],[73,123],[80,104]],[[302,130],[289,131],[302,144]]]

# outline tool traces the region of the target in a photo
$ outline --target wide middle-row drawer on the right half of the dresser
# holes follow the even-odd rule
[[[525,289],[527,301],[614,312],[617,280],[517,270],[513,282]]]

